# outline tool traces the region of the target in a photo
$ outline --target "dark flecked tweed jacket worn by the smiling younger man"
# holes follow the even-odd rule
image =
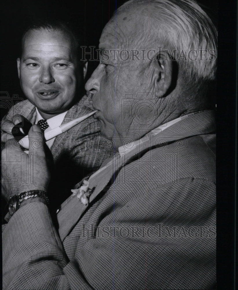
[[[85,95],[66,113],[62,124],[90,113],[93,110],[90,95]],[[36,107],[28,100],[19,102],[10,109],[4,119],[12,119],[22,114],[32,124],[36,122]],[[100,135],[100,123],[89,117],[67,132],[56,136],[50,149],[54,167],[51,174],[49,192],[54,208],[57,208],[70,189],[84,176],[96,171],[111,150],[105,146],[105,138]]]

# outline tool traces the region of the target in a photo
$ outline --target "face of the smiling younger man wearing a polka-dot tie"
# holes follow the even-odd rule
[[[76,99],[78,69],[72,37],[62,31],[30,30],[17,59],[21,88],[47,119],[68,110]]]

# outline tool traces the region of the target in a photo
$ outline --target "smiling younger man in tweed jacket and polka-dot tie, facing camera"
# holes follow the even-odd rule
[[[18,76],[27,100],[10,109],[3,120],[23,112],[47,132],[90,113],[91,96],[84,93],[87,62],[80,61],[80,39],[65,23],[39,22],[23,34]],[[21,117],[15,118],[21,120]],[[45,125],[46,124],[46,125]],[[103,146],[100,124],[90,117],[46,142],[54,159],[49,190],[54,210],[85,175],[97,170],[110,150]]]

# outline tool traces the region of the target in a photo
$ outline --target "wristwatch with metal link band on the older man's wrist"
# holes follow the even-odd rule
[[[41,197],[47,202],[47,204],[50,203],[46,191],[42,191],[42,190],[24,191],[10,198],[8,202],[9,214],[13,215],[19,209],[19,206],[21,202],[23,202],[23,200],[27,200],[28,198],[32,198],[32,197]]]

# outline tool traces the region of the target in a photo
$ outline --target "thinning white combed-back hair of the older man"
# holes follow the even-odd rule
[[[178,61],[180,72],[189,83],[201,79],[211,81],[216,75],[217,30],[206,12],[193,0],[130,0],[120,6],[118,12],[123,12],[131,6],[144,6],[151,21],[149,25],[157,35],[153,34],[151,43],[156,42],[166,45],[169,53],[176,51],[176,56],[181,52],[185,55]],[[144,33],[148,35],[148,25]],[[145,37],[147,37],[145,35]],[[191,60],[191,50],[197,50],[199,57]],[[201,59],[201,50],[203,57]],[[187,60],[186,60],[187,59]],[[206,60],[204,60],[206,59]]]

